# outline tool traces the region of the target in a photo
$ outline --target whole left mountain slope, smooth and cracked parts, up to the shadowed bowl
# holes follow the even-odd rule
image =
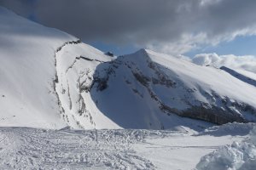
[[[5,8],[0,20],[1,126],[119,128],[88,93],[96,65],[113,57]]]

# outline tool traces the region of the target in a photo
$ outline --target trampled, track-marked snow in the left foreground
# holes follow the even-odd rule
[[[0,169],[155,169],[131,144],[146,130],[45,130],[1,127]]]

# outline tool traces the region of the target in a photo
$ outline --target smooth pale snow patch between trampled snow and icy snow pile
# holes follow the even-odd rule
[[[140,156],[154,162],[157,169],[193,169],[205,156],[219,146],[230,144],[232,140],[241,140],[240,137],[223,136],[193,136],[189,133],[172,134],[165,139],[147,139],[136,144]]]

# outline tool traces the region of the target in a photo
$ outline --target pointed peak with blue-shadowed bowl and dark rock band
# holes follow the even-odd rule
[[[98,65],[94,77],[92,98],[121,127],[184,123],[173,113],[218,124],[256,120],[255,87],[225,71],[169,55],[142,49]]]

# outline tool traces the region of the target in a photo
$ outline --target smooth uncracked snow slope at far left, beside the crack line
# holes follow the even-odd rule
[[[54,92],[55,48],[77,40],[0,7],[1,126],[62,127]]]

